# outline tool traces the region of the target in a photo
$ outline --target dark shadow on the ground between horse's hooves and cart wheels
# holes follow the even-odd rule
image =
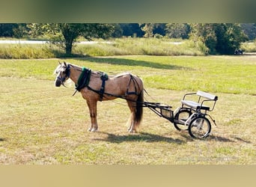
[[[144,141],[144,142],[159,142],[165,141],[167,143],[183,144],[186,143],[180,139],[168,138],[161,135],[154,135],[147,132],[140,132],[138,134],[131,135],[114,135],[107,132],[101,132],[108,135],[107,138],[96,138],[97,141],[110,141],[112,143],[120,144],[126,141]]]

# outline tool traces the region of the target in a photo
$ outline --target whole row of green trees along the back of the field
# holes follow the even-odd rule
[[[43,37],[72,54],[78,37],[94,38],[156,37],[201,41],[209,54],[230,55],[240,43],[255,40],[255,23],[2,23],[0,37]]]

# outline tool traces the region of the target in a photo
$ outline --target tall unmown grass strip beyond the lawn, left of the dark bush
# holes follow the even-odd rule
[[[5,40],[4,40],[5,41]],[[178,44],[178,45],[177,45]],[[109,55],[205,55],[207,49],[203,43],[190,40],[175,42],[156,38],[122,38],[110,42],[74,43],[74,57],[109,56]],[[0,43],[0,58],[34,59],[63,58],[64,49],[50,43]]]

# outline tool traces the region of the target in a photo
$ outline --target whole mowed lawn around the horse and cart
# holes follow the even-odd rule
[[[0,163],[256,164],[256,56],[115,56],[65,61],[144,80],[151,102],[180,106],[184,93],[219,96],[212,132],[195,140],[144,108],[138,133],[127,132],[122,99],[98,102],[99,132],[87,132],[88,107],[74,88],[55,88],[58,61],[0,60]]]

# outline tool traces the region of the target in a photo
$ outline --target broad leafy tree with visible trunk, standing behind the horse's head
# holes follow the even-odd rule
[[[28,26],[34,35],[49,34],[52,43],[58,44],[65,49],[66,55],[72,54],[73,45],[79,36],[91,40],[91,37],[106,39],[114,31],[113,24],[90,24],[90,23],[33,23]]]

